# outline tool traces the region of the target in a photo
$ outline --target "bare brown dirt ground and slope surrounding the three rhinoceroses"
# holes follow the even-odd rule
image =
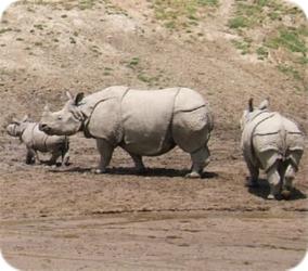
[[[271,60],[242,55],[227,26],[234,9],[223,1],[200,22],[203,35],[165,29],[149,1],[82,1],[12,5],[1,21],[0,188],[4,258],[21,270],[285,270],[307,249],[308,147],[290,201],[268,201],[261,175],[244,186],[247,169],[239,118],[248,98],[269,96],[274,111],[307,134],[303,81]],[[87,1],[84,1],[87,2]],[[92,2],[92,1],[88,1]],[[125,2],[125,3],[123,3]],[[224,3],[226,2],[226,3]],[[7,30],[3,30],[7,29]],[[259,30],[259,29],[258,29]],[[25,147],[4,127],[12,116],[39,119],[64,90],[94,92],[126,85],[141,89],[185,86],[215,114],[211,163],[202,179],[183,176],[179,149],[145,157],[134,172],[117,149],[106,175],[94,175],[93,140],[70,138],[68,167],[25,165]],[[46,159],[48,156],[44,157]]]

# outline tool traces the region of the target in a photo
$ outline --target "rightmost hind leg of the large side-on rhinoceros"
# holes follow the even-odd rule
[[[198,149],[191,153],[192,171],[188,173],[187,178],[201,178],[203,168],[209,163],[209,151],[207,146]]]

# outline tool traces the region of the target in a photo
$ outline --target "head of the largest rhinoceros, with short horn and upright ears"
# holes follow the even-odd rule
[[[76,96],[66,91],[68,101],[59,112],[50,112],[48,105],[44,107],[39,124],[39,129],[47,134],[72,136],[80,130],[84,115],[78,108],[79,102],[84,99],[84,93]]]

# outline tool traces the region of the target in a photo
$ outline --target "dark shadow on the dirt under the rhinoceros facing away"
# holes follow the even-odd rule
[[[270,186],[269,186],[267,179],[259,179],[258,185],[248,188],[248,192],[256,196],[267,199],[270,193]],[[294,188],[291,191],[291,197],[287,201],[296,201],[296,199],[303,199],[303,198],[307,198],[307,195],[304,194],[300,190]]]

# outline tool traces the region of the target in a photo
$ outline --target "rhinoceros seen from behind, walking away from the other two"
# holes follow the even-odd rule
[[[251,173],[247,185],[256,185],[259,169],[264,169],[270,184],[268,198],[287,198],[304,152],[304,133],[268,105],[265,100],[254,108],[251,99],[241,119],[242,150]]]

